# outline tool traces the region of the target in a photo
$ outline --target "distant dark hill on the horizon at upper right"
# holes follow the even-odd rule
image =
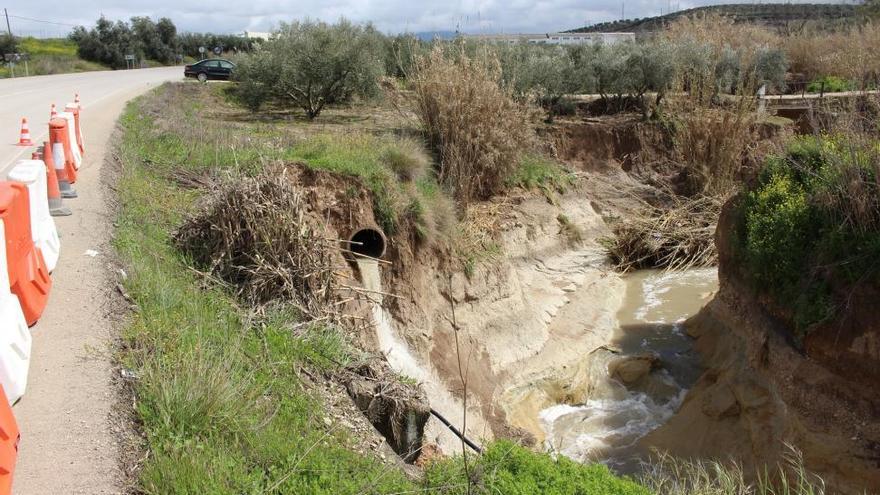
[[[732,17],[737,23],[760,24],[770,28],[784,28],[791,23],[815,23],[820,27],[833,27],[855,19],[856,6],[844,4],[728,4],[709,5],[680,10],[671,14],[641,19],[603,22],[592,26],[572,29],[570,33],[635,32],[645,34],[663,29],[670,22],[693,14],[716,13]]]

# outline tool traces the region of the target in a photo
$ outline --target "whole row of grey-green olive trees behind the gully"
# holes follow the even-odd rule
[[[765,84],[781,90],[788,68],[780,49],[757,42],[713,44],[687,36],[591,46],[490,44],[468,38],[425,42],[406,34],[385,36],[371,25],[346,20],[304,21],[283,24],[270,41],[236,59],[236,91],[253,110],[275,102],[315,118],[328,103],[372,96],[382,76],[406,83],[417,60],[438,45],[451,57],[463,52],[497,60],[513,94],[537,100],[551,116],[571,94],[599,94],[609,106],[635,102],[647,109],[649,93],[659,104],[673,87],[706,101]]]

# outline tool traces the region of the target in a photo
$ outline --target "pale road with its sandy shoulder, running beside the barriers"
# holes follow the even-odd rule
[[[118,327],[110,246],[113,191],[102,182],[104,157],[116,121],[130,99],[165,81],[181,80],[182,67],[89,72],[0,80],[0,173],[32,147],[18,147],[21,118],[31,138],[46,138],[49,107],[59,109],[79,93],[85,141],[73,210],[58,217],[61,258],[52,274],[48,307],[31,328],[30,373],[25,396],[13,407],[21,430],[16,494],[122,493],[117,461],[119,425],[112,409],[108,343]],[[195,83],[194,83],[195,84]],[[5,140],[5,141],[4,141]]]

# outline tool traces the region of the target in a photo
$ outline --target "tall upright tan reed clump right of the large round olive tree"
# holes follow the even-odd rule
[[[421,57],[411,82],[416,114],[441,160],[440,181],[466,204],[504,188],[534,131],[528,109],[503,87],[497,58],[453,50]]]

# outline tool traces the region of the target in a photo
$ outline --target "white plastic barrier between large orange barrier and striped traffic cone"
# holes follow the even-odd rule
[[[24,183],[28,187],[31,210],[31,235],[34,244],[43,252],[49,273],[55,270],[61,254],[61,240],[55,221],[49,214],[46,165],[40,160],[19,160],[6,176],[9,180]]]

